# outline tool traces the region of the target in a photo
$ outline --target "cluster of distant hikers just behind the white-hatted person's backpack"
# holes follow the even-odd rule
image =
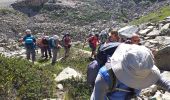
[[[90,59],[94,59],[96,57],[96,49],[100,47],[101,44],[107,44],[110,42],[125,42],[128,44],[140,44],[140,37],[136,33],[132,35],[131,38],[121,38],[118,35],[118,31],[116,29],[111,30],[110,32],[101,31],[100,34],[92,34],[90,33],[85,40],[85,43],[88,42],[89,47],[91,48],[91,56]]]

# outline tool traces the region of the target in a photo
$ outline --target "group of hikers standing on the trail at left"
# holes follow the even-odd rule
[[[36,48],[40,48],[41,51],[41,58],[48,59],[52,58],[51,64],[54,65],[57,60],[57,54],[60,48],[64,47],[64,57],[66,58],[69,56],[69,51],[71,47],[71,36],[69,33],[65,33],[62,39],[58,35],[53,36],[41,36],[39,38],[35,38],[32,35],[30,29],[25,31],[25,36],[21,39],[21,42],[24,42],[25,49],[26,49],[26,58],[28,60],[32,60],[32,63],[36,60]]]

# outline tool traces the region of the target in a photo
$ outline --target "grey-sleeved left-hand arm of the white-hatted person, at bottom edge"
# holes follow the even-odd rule
[[[90,100],[105,100],[108,88],[106,81],[98,74]]]

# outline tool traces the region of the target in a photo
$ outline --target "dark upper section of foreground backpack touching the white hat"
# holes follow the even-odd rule
[[[115,52],[116,48],[120,45],[120,42],[111,42],[111,43],[107,43],[107,44],[101,44],[98,52],[97,52],[97,56],[96,56],[96,60],[99,64],[100,67],[102,67],[103,65],[105,65],[105,63],[107,62],[108,58],[111,57],[113,55],[113,53]]]

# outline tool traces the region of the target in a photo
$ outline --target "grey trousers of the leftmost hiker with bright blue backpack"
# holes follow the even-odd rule
[[[27,60],[30,60],[30,56],[32,56],[32,62],[35,61],[35,48],[26,48],[26,56]]]

